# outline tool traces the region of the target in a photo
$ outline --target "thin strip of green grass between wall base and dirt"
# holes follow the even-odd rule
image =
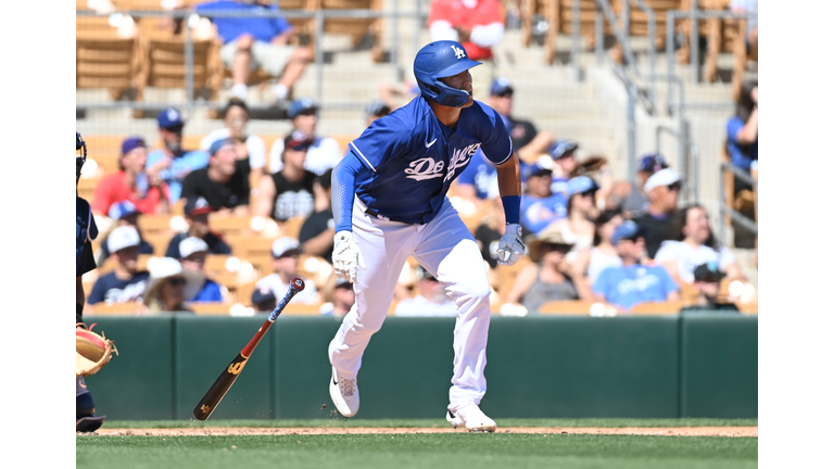
[[[498,427],[758,427],[758,419],[495,419]],[[317,420],[108,420],[104,428],[202,427],[448,427],[444,419],[317,419]]]

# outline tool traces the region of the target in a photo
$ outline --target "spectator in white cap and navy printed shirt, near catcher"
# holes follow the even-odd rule
[[[116,266],[96,280],[87,296],[88,305],[142,301],[149,274],[138,269],[140,243],[139,232],[130,226],[118,227],[110,233],[108,249],[116,257]]]

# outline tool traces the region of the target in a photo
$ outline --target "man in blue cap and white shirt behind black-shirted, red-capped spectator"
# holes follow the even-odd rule
[[[290,104],[287,112],[290,117],[292,129],[287,138],[290,138],[295,131],[309,136],[311,143],[307,149],[307,156],[304,161],[304,168],[321,175],[328,169],[332,169],[342,161],[343,152],[339,148],[339,142],[332,137],[321,137],[316,135],[318,126],[318,104],[309,98],[300,98]],[[283,147],[285,140],[276,140],[269,150],[269,173],[275,174],[283,167]]]

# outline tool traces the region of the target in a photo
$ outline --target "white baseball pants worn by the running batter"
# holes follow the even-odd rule
[[[328,350],[339,375],[350,379],[358,373],[365,347],[382,327],[400,272],[413,255],[445,287],[458,309],[448,409],[480,404],[486,391],[490,286],[478,244],[448,199],[430,223],[409,225],[368,215],[354,198],[353,238],[367,268],[357,269],[356,303]]]

